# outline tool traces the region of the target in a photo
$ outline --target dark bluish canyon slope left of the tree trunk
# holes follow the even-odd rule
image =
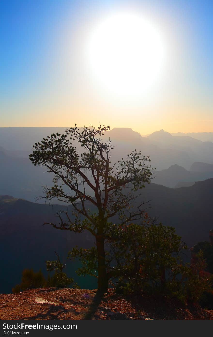
[[[0,293],[11,293],[12,287],[20,283],[25,268],[33,268],[47,275],[45,261],[56,259],[56,251],[66,264],[66,272],[79,285],[95,288],[96,280],[80,278],[75,274],[79,263],[67,260],[67,253],[76,245],[85,248],[92,245],[88,234],[59,231],[44,222],[58,222],[56,213],[67,208],[62,205],[36,204],[9,195],[0,197]]]

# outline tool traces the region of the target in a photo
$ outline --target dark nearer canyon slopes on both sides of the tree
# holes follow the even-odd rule
[[[191,247],[199,241],[208,240],[212,225],[213,179],[197,182],[193,186],[177,189],[157,184],[146,184],[138,203],[149,201],[145,207],[158,222],[176,228],[178,235]],[[57,211],[65,210],[63,205],[36,204],[11,196],[0,198],[0,230],[2,244],[0,256],[2,270],[0,290],[10,292],[11,287],[20,282],[24,268],[42,268],[45,261],[55,259],[56,250],[63,262],[67,252],[76,244],[85,248],[93,245],[89,234],[74,234],[59,231],[44,222],[57,222]],[[71,214],[71,207],[68,208]],[[113,219],[116,221],[116,218]],[[69,275],[76,278],[78,265],[68,264]],[[80,282],[82,282],[81,279]],[[87,286],[94,287],[94,280],[87,279]],[[82,284],[81,284],[82,286]]]

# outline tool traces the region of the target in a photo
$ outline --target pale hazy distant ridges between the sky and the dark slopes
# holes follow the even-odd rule
[[[35,142],[52,132],[64,131],[65,127],[0,128],[0,195],[10,194],[29,201],[42,196],[43,186],[52,186],[53,175],[44,173],[45,168],[32,165],[28,155]],[[149,155],[151,167],[157,168],[153,183],[180,187],[213,177],[211,142],[173,136],[163,129],[142,137],[131,128],[114,128],[102,137],[103,141],[110,139],[114,146],[112,163],[126,158],[133,149]]]

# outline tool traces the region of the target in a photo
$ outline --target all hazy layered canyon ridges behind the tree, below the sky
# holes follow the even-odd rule
[[[63,132],[64,128],[57,130]],[[49,225],[42,226],[44,222],[57,221],[55,214],[65,210],[66,206],[41,204],[43,200],[32,203],[43,195],[42,186],[51,186],[53,176],[43,173],[42,167],[31,164],[28,159],[32,152],[30,145],[52,131],[55,130],[0,130],[0,195],[9,195],[0,200],[1,256],[5,256],[1,289],[4,292],[10,292],[19,282],[24,268],[41,268],[45,273],[44,262],[54,258],[54,250],[66,262],[67,252],[76,244],[93,245],[88,234],[58,233]],[[12,135],[13,141],[9,143]],[[137,148],[142,154],[150,155],[151,166],[156,166],[151,184],[146,184],[138,199],[138,202],[149,202],[145,205],[149,214],[165,226],[174,226],[189,247],[198,241],[208,241],[212,227],[213,143],[206,144],[189,136],[172,136],[163,131],[144,138],[131,129],[122,128],[109,131],[104,139],[109,137],[112,145],[116,144],[112,162]],[[70,206],[69,210],[71,214]],[[67,268],[76,279],[75,267],[68,263]],[[80,279],[77,277],[77,280]],[[88,277],[86,281],[88,287],[95,286],[92,278]]]

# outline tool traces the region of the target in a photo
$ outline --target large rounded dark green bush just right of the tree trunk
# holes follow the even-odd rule
[[[165,288],[166,275],[179,273],[179,253],[186,249],[173,227],[130,224],[117,229],[118,242],[111,247],[117,266],[113,269],[133,292]]]

